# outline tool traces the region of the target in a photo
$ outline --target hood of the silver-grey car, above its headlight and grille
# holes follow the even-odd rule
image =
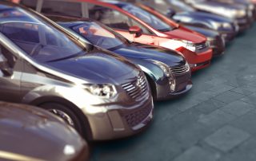
[[[73,57],[62,61],[48,62],[46,65],[58,69],[74,77],[79,77],[88,83],[114,83],[117,78],[122,78],[136,71],[137,67],[103,49],[94,48],[89,53],[80,57]]]

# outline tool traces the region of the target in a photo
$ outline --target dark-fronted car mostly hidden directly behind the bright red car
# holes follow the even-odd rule
[[[175,22],[171,21],[170,18],[167,18],[165,15],[162,15],[158,11],[150,8],[149,6],[145,6],[143,4],[138,4],[143,10],[150,12],[155,17],[161,19],[163,22],[166,22],[170,26],[174,26]],[[183,26],[179,26],[179,28],[184,28]],[[186,28],[191,29],[197,33],[201,33],[205,37],[207,37],[208,45],[213,49],[213,56],[219,56],[224,53],[225,50],[225,38],[221,37],[217,32],[214,32],[210,29],[202,29],[200,27],[186,26]]]

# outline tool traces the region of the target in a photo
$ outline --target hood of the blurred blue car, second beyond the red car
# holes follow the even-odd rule
[[[182,13],[177,13],[175,14],[177,16],[184,16],[184,17],[189,17],[193,18],[199,21],[207,21],[207,22],[229,22],[232,23],[232,20],[230,18],[224,18],[222,16],[218,16],[215,14],[210,14],[210,13],[204,13],[204,12],[182,12]],[[174,19],[175,19],[174,15]]]

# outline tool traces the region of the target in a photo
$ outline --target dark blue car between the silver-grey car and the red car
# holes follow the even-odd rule
[[[82,35],[93,45],[126,57],[140,66],[150,83],[155,100],[166,100],[186,93],[192,87],[190,66],[176,51],[128,41],[114,30],[89,19],[74,20],[59,16],[61,26]]]

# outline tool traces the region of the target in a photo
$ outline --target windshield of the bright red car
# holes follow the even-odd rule
[[[162,22],[162,20],[155,17],[153,14],[148,13],[146,10],[142,10],[138,6],[127,4],[125,6],[122,6],[122,9],[126,10],[130,14],[133,14],[135,17],[141,19],[143,22],[146,22],[154,29],[158,29],[158,31],[166,32],[173,29],[168,24]]]

